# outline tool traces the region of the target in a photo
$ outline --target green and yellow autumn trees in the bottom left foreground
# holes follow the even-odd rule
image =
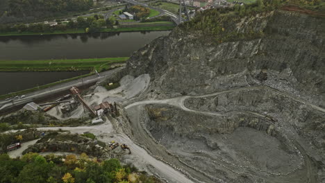
[[[22,158],[12,159],[0,155],[0,182],[11,183],[127,183],[159,182],[155,177],[140,173],[131,165],[122,165],[118,159],[103,162],[82,153],[56,156],[28,153]]]

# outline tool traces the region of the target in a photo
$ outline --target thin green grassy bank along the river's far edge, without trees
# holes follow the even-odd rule
[[[164,25],[155,25],[154,24],[141,24],[142,26],[133,27],[119,27],[119,28],[103,28],[99,33],[117,33],[117,32],[137,32],[137,31],[162,31],[162,30],[172,30],[175,28],[174,24],[164,24]],[[10,32],[10,33],[0,33],[0,37],[6,36],[20,36],[20,35],[65,35],[65,34],[90,34],[85,33],[83,28],[73,28],[67,30],[55,30],[53,32],[44,32],[44,33],[33,33],[33,32]]]

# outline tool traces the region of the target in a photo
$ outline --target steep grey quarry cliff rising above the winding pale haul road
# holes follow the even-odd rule
[[[229,33],[253,31],[263,36],[216,44],[200,31],[188,33],[178,27],[135,53],[128,71],[133,76],[149,73],[152,88],[163,94],[269,85],[306,99],[315,97],[325,106],[324,18],[276,11],[226,26]]]

